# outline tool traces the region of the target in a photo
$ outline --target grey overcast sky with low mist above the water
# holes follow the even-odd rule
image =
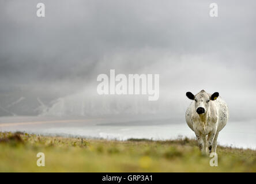
[[[36,4],[46,17],[36,16]],[[232,120],[255,118],[255,1],[0,2],[0,115],[182,117],[186,92],[218,91]],[[160,98],[106,97],[97,75],[160,74]]]

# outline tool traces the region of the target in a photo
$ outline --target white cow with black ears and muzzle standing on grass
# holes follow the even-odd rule
[[[202,154],[216,152],[217,137],[228,121],[227,104],[217,92],[209,94],[202,90],[186,95],[193,100],[186,111],[187,125],[195,132]]]

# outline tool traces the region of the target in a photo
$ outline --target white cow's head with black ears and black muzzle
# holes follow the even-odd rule
[[[219,97],[219,93],[215,92],[212,95],[206,93],[204,90],[200,91],[196,95],[191,92],[186,93],[187,98],[195,101],[195,111],[198,114],[204,114],[208,112],[209,104]]]

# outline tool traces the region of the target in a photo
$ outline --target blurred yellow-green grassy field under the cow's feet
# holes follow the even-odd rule
[[[37,153],[45,155],[38,167]],[[218,147],[218,166],[195,140],[110,141],[0,132],[0,172],[255,172],[256,151]]]

